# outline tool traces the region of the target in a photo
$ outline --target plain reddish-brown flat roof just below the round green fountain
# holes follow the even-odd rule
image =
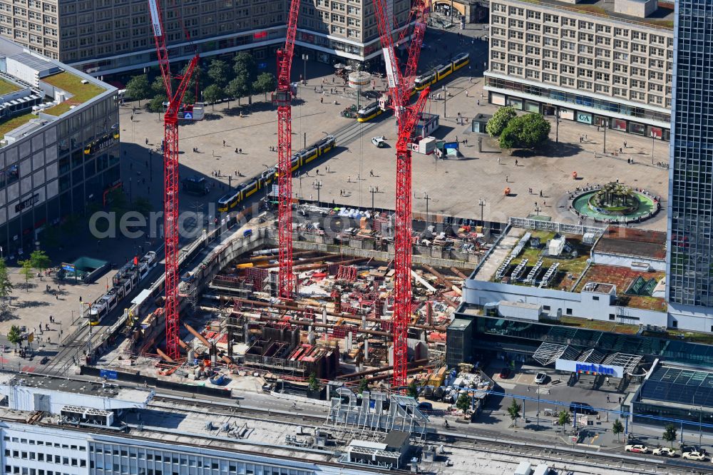
[[[665,260],[666,233],[608,226],[595,244],[593,251]]]

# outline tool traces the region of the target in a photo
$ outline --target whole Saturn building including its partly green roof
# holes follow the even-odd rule
[[[14,258],[121,186],[119,114],[116,88],[4,39],[0,86],[0,246]]]

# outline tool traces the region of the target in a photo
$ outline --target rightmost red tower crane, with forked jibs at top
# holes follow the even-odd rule
[[[416,123],[426,105],[430,89],[425,88],[413,106],[409,98],[414,88],[414,75],[419,64],[421,46],[426,31],[426,16],[429,11],[428,0],[415,0],[411,15],[415,18],[414,31],[411,34],[409,56],[406,68],[401,74],[394,48],[392,24],[394,15],[386,8],[385,0],[374,0],[376,25],[379,28],[381,48],[384,51],[386,77],[389,82],[391,104],[399,126],[399,138],[396,141],[396,223],[394,236],[394,374],[392,385],[395,388],[406,386],[406,366],[408,362],[408,331],[411,319],[411,149],[409,142]]]

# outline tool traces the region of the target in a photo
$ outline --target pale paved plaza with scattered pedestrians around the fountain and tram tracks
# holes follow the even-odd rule
[[[471,53],[470,68],[462,68],[443,83],[448,88],[446,118],[441,120],[441,127],[434,133],[437,138],[448,141],[457,138],[458,141],[467,140],[468,144],[461,145],[463,156],[458,160],[436,161],[435,155],[414,153],[414,212],[425,213],[428,203],[430,213],[479,218],[481,208],[478,201],[483,199],[486,202],[483,210],[486,220],[504,222],[508,216],[534,214],[537,205],[541,215],[557,221],[576,222],[578,218],[567,209],[568,191],[577,186],[614,180],[661,195],[662,208],[665,209],[668,170],[651,163],[652,160],[654,163],[668,161],[667,142],[652,143],[648,138],[607,131],[608,153],[604,154],[604,133],[597,131],[596,126],[561,121],[558,133],[553,123],[550,134],[552,143],[543,150],[544,156],[528,156],[518,151],[510,155],[507,150],[499,150],[493,139],[471,133],[468,125],[460,125],[458,113],[467,124],[477,113],[493,113],[497,109],[486,104],[487,96],[483,94],[482,72],[487,44],[471,38],[481,36],[483,31],[479,26],[469,27],[472,29],[463,31],[462,36],[458,36],[458,31],[443,34],[429,31],[426,36],[422,69],[447,59],[451,54],[461,51]],[[448,51],[443,50],[445,44],[450,46]],[[297,69],[301,71],[302,68]],[[329,66],[308,63],[307,70],[307,86],[299,86],[298,98],[292,108],[294,150],[302,148],[304,143],[317,141],[327,133],[354,124],[354,119],[339,116],[340,111],[354,103],[354,97],[344,93],[343,85],[332,86],[334,76]],[[317,73],[321,76],[314,78]],[[383,81],[377,79],[376,86],[377,89],[383,88]],[[322,87],[326,92],[322,93]],[[329,89],[335,87],[339,92],[330,93]],[[433,92],[443,96],[441,83]],[[208,106],[205,121],[180,128],[180,172],[182,176],[203,175],[215,183],[215,189],[209,196],[212,202],[225,193],[228,183],[235,186],[236,178],[242,182],[260,173],[266,165],[272,166],[277,162],[277,153],[270,151],[271,146],[277,145],[276,113],[264,99],[263,96],[254,96],[252,107],[246,105],[246,99],[243,99],[240,108],[235,102],[230,103],[230,108],[227,103],[217,104],[215,111]],[[442,115],[443,108],[443,100],[436,99],[429,100],[425,110]],[[160,205],[160,187],[163,184],[160,181],[159,155],[153,154],[153,181],[147,180],[144,185],[143,179],[150,175],[145,166],[148,148],[155,148],[155,144],[160,143],[163,123],[158,114],[147,112],[135,113],[132,123],[128,120],[130,113],[130,108],[123,108],[121,117],[122,140],[128,153],[126,162],[131,167],[131,170],[125,171],[133,173],[133,180],[141,180],[140,188],[133,187],[134,194],[150,193]],[[297,197],[316,200],[318,193],[314,182],[319,180],[322,183],[319,190],[322,201],[369,207],[371,188],[378,189],[374,193],[376,207],[393,208],[394,118],[385,114],[375,123],[363,123],[359,127],[361,137],[356,135],[352,141],[337,143],[339,148],[328,155],[326,161],[311,163],[307,170],[302,170],[302,178],[293,180],[292,189]],[[374,136],[386,137],[389,146],[381,149],[374,147],[371,144],[371,137]],[[557,143],[555,136],[558,137]],[[483,138],[481,153],[477,145],[479,137]],[[583,137],[581,142],[580,137]],[[145,145],[147,138],[149,145]],[[222,141],[225,141],[225,146]],[[198,153],[192,151],[194,147],[198,148]],[[235,153],[236,148],[242,149],[242,153]],[[622,153],[618,153],[619,148],[622,148]],[[614,151],[617,156],[613,155]],[[632,159],[634,163],[627,163],[627,159]],[[217,171],[220,171],[220,177],[213,175]],[[236,177],[236,172],[243,176]],[[573,172],[577,172],[578,180],[573,180]],[[511,189],[510,195],[504,195],[505,188]],[[529,193],[530,188],[533,194]],[[426,195],[429,200],[424,199]],[[183,209],[190,209],[195,202],[205,203],[206,200],[183,195],[181,199]],[[665,225],[665,212],[641,224],[655,230],[664,230]]]

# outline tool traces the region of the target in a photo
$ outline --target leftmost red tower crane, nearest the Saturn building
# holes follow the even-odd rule
[[[166,261],[166,354],[177,360],[178,353],[178,109],[183,101],[183,95],[188,88],[188,81],[198,64],[198,53],[188,63],[183,75],[173,76],[179,81],[173,91],[168,62],[168,51],[163,34],[163,21],[158,0],[148,0],[148,8],[153,24],[153,38],[158,53],[158,66],[161,69],[163,85],[168,97],[168,108],[163,116],[163,170],[164,170],[164,204],[163,204],[163,235],[165,239]]]

